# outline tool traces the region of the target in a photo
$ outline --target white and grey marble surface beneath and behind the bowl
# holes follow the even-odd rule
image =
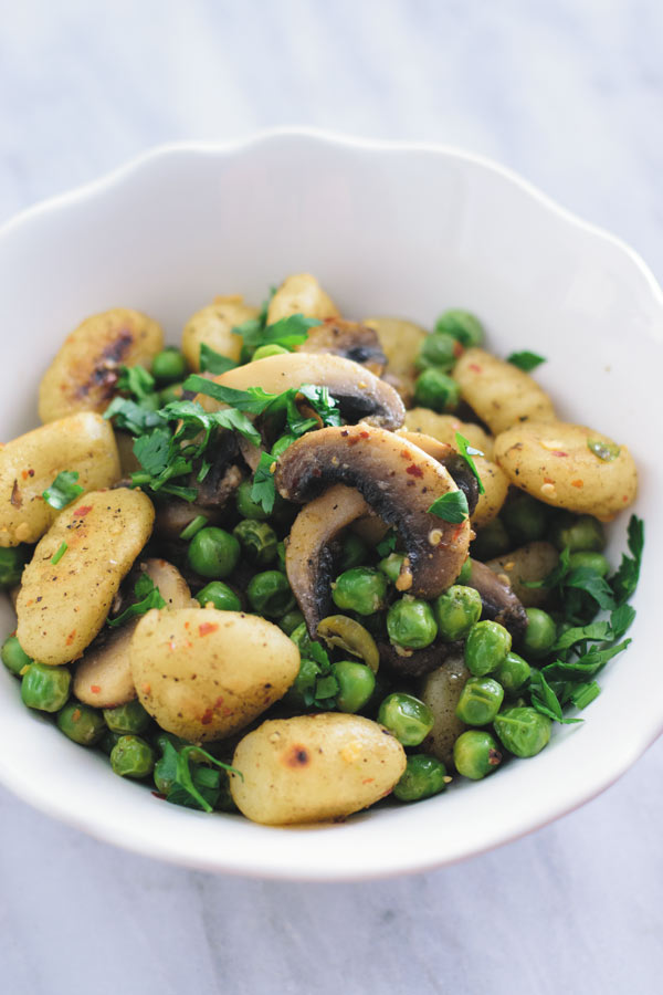
[[[662,277],[662,42],[657,0],[0,0],[0,222],[157,143],[315,125],[492,156]],[[657,993],[662,781],[660,741],[495,852],[326,886],[162,866],[0,789],[0,991]]]

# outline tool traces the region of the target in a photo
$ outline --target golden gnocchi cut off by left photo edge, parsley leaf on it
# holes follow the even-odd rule
[[[52,525],[57,511],[43,492],[62,471],[75,471],[84,491],[118,480],[113,429],[99,415],[70,415],[0,449],[0,546],[35,543]]]

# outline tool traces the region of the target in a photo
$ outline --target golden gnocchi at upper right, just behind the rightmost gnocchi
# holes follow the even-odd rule
[[[455,365],[461,396],[494,436],[516,422],[552,421],[552,401],[534,377],[485,349],[467,349]]]

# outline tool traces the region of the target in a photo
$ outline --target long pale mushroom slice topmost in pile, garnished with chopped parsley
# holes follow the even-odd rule
[[[385,384],[369,369],[343,356],[324,353],[267,356],[229,369],[214,377],[214,380],[236,390],[262,387],[267,394],[282,394],[303,384],[315,384],[329,389],[346,421],[364,419],[371,425],[396,429],[403,423],[406,417],[403,402],[393,387]],[[198,400],[208,410],[219,407],[209,397],[200,396]]]

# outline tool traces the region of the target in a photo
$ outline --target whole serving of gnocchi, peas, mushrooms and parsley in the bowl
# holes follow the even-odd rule
[[[86,318],[0,447],[24,704],[155,804],[274,826],[440,795],[583,721],[630,642],[643,524],[614,569],[603,523],[635,465],[559,420],[541,356],[484,339],[457,308],[348,321],[307,273],[217,297],[181,349]]]

